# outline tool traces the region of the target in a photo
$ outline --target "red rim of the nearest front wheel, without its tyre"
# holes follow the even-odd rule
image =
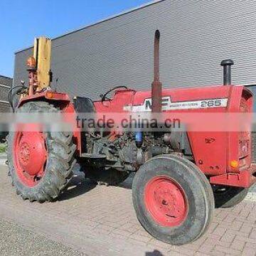
[[[186,219],[188,203],[181,186],[168,176],[156,176],[146,184],[146,209],[151,217],[165,227],[181,225]]]

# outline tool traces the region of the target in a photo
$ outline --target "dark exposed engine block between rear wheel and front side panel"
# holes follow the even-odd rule
[[[98,168],[117,171],[137,171],[147,160],[160,154],[179,154],[191,157],[188,138],[184,132],[144,133],[142,141],[137,132],[123,134],[87,133],[87,163]]]

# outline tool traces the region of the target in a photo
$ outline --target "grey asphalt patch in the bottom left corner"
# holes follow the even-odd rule
[[[0,220],[0,255],[62,255],[85,256],[41,235],[32,233],[16,223]]]

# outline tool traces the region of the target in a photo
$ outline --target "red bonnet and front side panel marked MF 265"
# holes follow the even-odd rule
[[[172,113],[183,112],[206,114],[240,112],[243,90],[245,89],[242,86],[223,85],[163,90],[164,114],[166,117],[171,117]],[[252,95],[249,95],[250,97]],[[95,109],[96,112],[113,113],[151,111],[150,100],[150,91],[118,90],[112,100],[95,102]],[[218,100],[219,104],[210,107],[203,105],[208,100]],[[167,105],[169,107],[166,107]],[[239,167],[237,169],[230,167],[230,161],[239,159],[238,132],[188,132],[188,140],[193,159],[204,174],[214,176],[239,171]]]

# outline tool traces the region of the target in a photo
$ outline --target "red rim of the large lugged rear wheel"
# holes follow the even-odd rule
[[[43,132],[16,132],[14,137],[14,169],[20,181],[33,187],[43,178],[47,148]]]

